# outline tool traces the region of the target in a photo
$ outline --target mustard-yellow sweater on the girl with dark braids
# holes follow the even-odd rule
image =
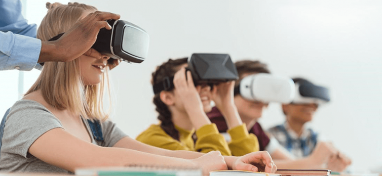
[[[175,126],[175,128],[179,131],[179,141],[166,134],[160,124],[152,124],[136,140],[169,150],[188,150],[202,153],[218,150],[222,155],[242,156],[250,152],[259,151],[256,136],[248,134],[245,124],[227,131],[232,139],[229,144],[219,134],[214,123],[204,125],[196,130],[198,139],[195,144],[192,138],[195,130],[188,131],[178,126]]]

